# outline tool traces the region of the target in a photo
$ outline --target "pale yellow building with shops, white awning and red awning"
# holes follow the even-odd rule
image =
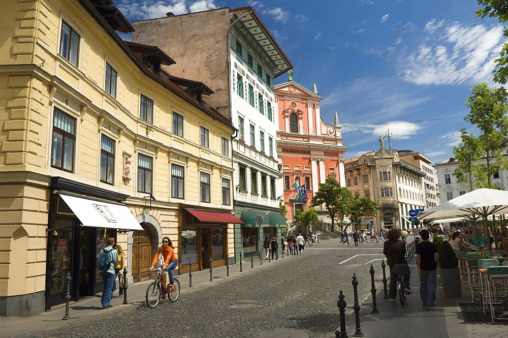
[[[106,0],[13,1],[0,19],[0,315],[62,303],[68,272],[73,300],[100,292],[109,236],[131,283],[163,236],[180,271],[226,264],[235,129],[213,92],[122,41],[133,28]]]

